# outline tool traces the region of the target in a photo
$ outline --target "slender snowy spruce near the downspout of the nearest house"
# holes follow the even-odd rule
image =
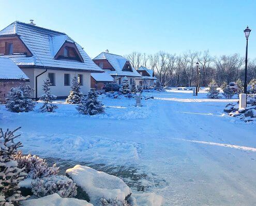
[[[40,100],[44,101],[42,107],[40,107],[41,112],[54,112],[58,108],[57,105],[52,104],[52,100],[56,99],[56,96],[51,94],[50,85],[50,78],[46,78],[42,85],[43,94],[39,97]]]

